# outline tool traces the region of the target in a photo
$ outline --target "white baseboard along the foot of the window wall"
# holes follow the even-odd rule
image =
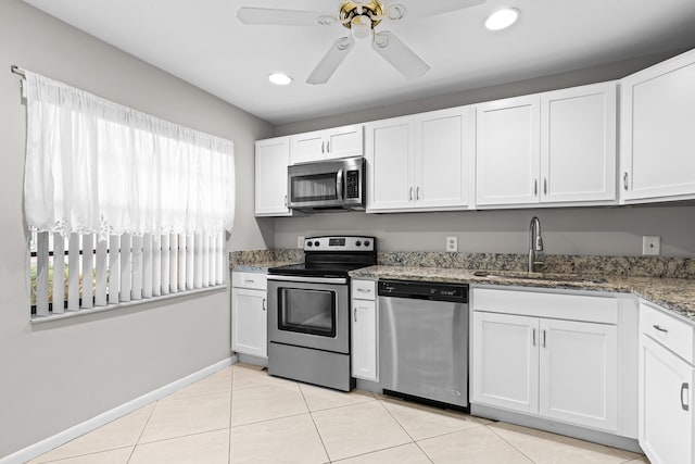
[[[222,371],[235,363],[238,362],[236,355],[231,358],[227,358],[218,363],[215,363],[211,366],[207,366],[197,373],[191,375],[187,375],[184,378],[179,378],[164,387],[157,388],[156,390],[152,390],[149,393],[144,393],[141,397],[138,397],[127,403],[123,403],[119,406],[116,406],[112,410],[103,412],[98,416],[94,416],[90,419],[87,419],[80,424],[77,424],[66,430],[60,431],[51,437],[48,437],[37,443],[23,448],[20,451],[16,451],[12,454],[9,454],[4,457],[0,459],[0,464],[22,464],[27,461],[33,460],[34,457],[40,456],[43,453],[51,451],[54,448],[60,447],[61,444],[67,443],[75,438],[83,436],[91,430],[94,430],[103,425],[109,424],[117,419],[118,417],[123,417],[126,414],[129,414],[140,407],[156,401],[161,400],[164,397],[167,397],[175,391],[180,390],[184,387],[188,387],[191,384],[197,383],[218,371]]]

